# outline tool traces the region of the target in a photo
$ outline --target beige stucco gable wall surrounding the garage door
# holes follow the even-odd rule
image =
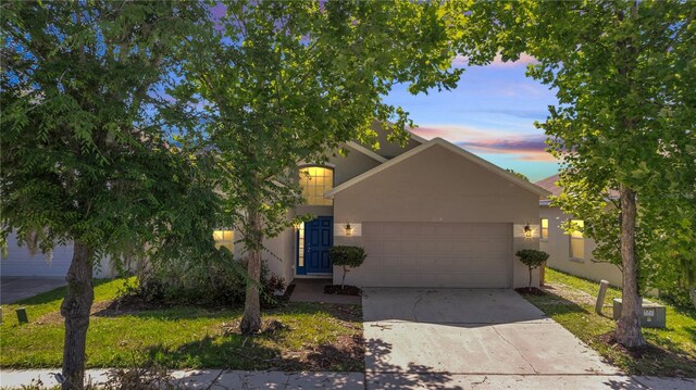
[[[433,146],[340,192],[334,222],[443,222],[538,224],[538,194],[442,146]],[[337,232],[334,231],[336,235]],[[538,248],[515,232],[513,251]],[[362,246],[361,237],[334,237],[334,244]],[[527,285],[526,267],[513,255],[513,287]],[[352,271],[353,275],[360,269]],[[538,285],[538,272],[535,272]],[[334,268],[334,281],[341,272]]]

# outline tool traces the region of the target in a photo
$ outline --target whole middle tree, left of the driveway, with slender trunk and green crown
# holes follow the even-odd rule
[[[450,88],[453,51],[437,5],[407,1],[225,1],[210,33],[190,39],[170,93],[191,106],[187,142],[219,156],[220,190],[248,256],[240,329],[259,330],[264,238],[293,226],[302,201],[298,163],[319,163],[340,143],[374,142],[373,119],[405,140],[407,113],[383,102],[396,83],[419,92]],[[413,28],[418,26],[418,28]],[[394,119],[395,123],[388,123]]]

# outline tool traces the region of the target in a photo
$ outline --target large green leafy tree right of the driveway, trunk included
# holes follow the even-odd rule
[[[557,91],[559,104],[538,125],[563,163],[556,201],[586,221],[597,259],[621,265],[617,339],[643,345],[638,281],[650,268],[696,268],[696,3],[524,1],[470,11],[495,21],[471,33],[494,37],[484,50],[533,55],[527,74]]]

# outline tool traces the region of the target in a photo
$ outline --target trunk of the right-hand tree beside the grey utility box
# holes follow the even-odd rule
[[[632,189],[621,185],[621,262],[623,264],[623,290],[621,291],[621,317],[617,324],[617,340],[624,347],[645,345],[641,332],[642,310],[638,295],[637,264],[635,259],[636,200]]]

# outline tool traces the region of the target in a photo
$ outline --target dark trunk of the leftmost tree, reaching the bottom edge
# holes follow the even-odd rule
[[[95,251],[75,241],[73,261],[65,277],[67,293],[61,304],[65,318],[65,344],[63,347],[63,390],[83,389],[85,385],[85,347],[89,311],[95,300],[91,284],[92,256]]]

